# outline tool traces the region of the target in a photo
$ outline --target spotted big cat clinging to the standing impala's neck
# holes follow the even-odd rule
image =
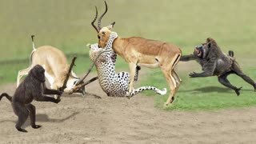
[[[110,97],[132,97],[143,90],[154,90],[157,94],[166,94],[166,88],[159,90],[154,86],[142,86],[134,89],[131,95],[128,94],[130,74],[127,72],[115,72],[115,62],[117,54],[112,50],[112,43],[118,34],[112,32],[107,42],[106,47],[98,47],[98,43],[88,45],[90,47],[90,59],[95,62],[95,67],[98,72],[98,81],[102,90]],[[99,55],[100,54],[100,55]],[[138,70],[137,70],[138,71]],[[138,72],[134,80],[138,79]]]

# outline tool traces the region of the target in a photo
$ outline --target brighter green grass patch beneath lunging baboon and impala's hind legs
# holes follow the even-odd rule
[[[245,69],[250,78],[256,78],[256,68]],[[196,70],[198,71],[198,70]],[[159,88],[167,87],[166,79],[160,70],[153,70],[142,82],[142,85],[153,85]],[[182,85],[175,96],[175,101],[170,106],[164,106],[169,96],[169,91],[163,96],[153,92],[145,92],[154,96],[154,106],[162,110],[217,110],[228,107],[245,107],[256,105],[256,93],[253,86],[246,83],[236,75],[230,75],[229,79],[234,86],[242,86],[240,96],[236,96],[234,90],[222,86],[217,77],[189,78],[187,74],[181,74]]]

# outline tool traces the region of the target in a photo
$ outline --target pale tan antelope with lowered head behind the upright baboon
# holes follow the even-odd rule
[[[30,66],[24,70],[18,71],[17,86],[19,85],[22,76],[27,75],[35,65],[41,65],[45,69],[45,76],[50,83],[50,88],[54,90],[60,89],[63,86],[66,74],[68,74],[70,69],[65,54],[53,46],[40,46],[36,49],[34,47],[34,35],[32,35],[31,38],[33,51],[30,54]],[[70,93],[70,90],[75,86],[79,79],[80,78],[71,71],[64,92]],[[76,92],[85,94],[84,89]]]

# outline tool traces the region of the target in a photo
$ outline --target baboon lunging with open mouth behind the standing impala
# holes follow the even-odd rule
[[[209,77],[216,75],[218,77],[218,82],[223,86],[229,87],[234,90],[237,95],[240,94],[242,87],[236,87],[230,84],[227,76],[230,74],[237,74],[250,85],[254,86],[254,91],[256,91],[256,83],[242,72],[242,69],[238,65],[238,62],[233,58],[234,52],[229,51],[229,55],[222,52],[217,42],[213,38],[207,38],[206,43],[202,46],[196,46],[194,49],[194,54],[182,56],[180,61],[186,62],[190,60],[196,60],[202,66],[202,73],[190,73],[190,78],[198,77]]]

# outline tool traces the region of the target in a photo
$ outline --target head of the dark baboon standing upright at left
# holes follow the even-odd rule
[[[46,82],[46,77],[45,77],[45,70],[42,66],[36,65],[34,66],[31,70],[30,73],[32,76],[40,82]]]

